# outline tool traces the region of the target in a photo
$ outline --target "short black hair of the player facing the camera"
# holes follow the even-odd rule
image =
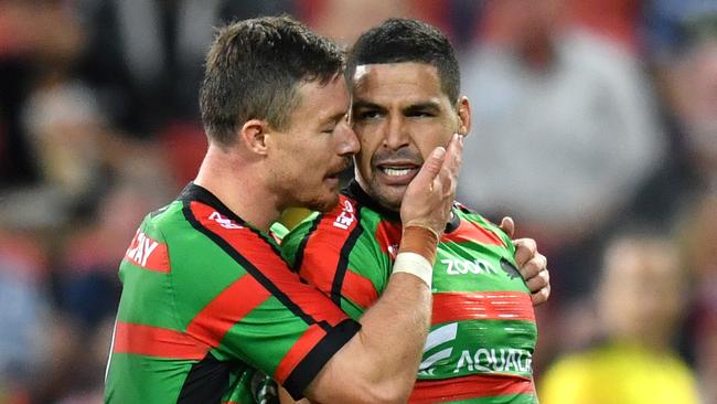
[[[411,19],[388,19],[364,32],[349,53],[346,76],[352,84],[356,66],[417,62],[436,66],[441,89],[458,100],[460,70],[456,51],[437,28]]]

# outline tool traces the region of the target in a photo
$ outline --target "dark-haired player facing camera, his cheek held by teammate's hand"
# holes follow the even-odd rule
[[[459,94],[452,46],[416,20],[392,19],[361,35],[346,76],[361,141],[355,180],[338,208],[285,237],[282,252],[302,278],[361,318],[395,270],[407,190],[434,147],[469,132],[470,104]],[[532,241],[518,243],[535,253]],[[523,253],[514,257],[501,228],[453,205],[434,265],[431,330],[411,402],[535,402],[533,304],[547,298],[549,285],[545,257]]]

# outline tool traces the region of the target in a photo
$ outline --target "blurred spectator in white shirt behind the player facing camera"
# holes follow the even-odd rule
[[[478,141],[459,179],[461,200],[514,215],[539,241],[555,299],[589,288],[602,234],[665,148],[634,55],[569,25],[565,7],[486,2],[483,41],[463,63]]]

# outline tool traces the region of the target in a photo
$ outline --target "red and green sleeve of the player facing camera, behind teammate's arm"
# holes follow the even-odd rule
[[[342,202],[339,209],[292,230],[281,252],[302,279],[356,319],[378,299],[390,267],[361,226],[356,210],[345,204],[351,202]]]

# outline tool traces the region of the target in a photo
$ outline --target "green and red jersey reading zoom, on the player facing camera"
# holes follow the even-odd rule
[[[339,206],[302,222],[281,249],[295,272],[358,318],[386,288],[400,235],[398,214],[352,182]],[[431,328],[411,402],[536,402],[537,329],[514,253],[500,228],[453,206],[434,265]]]

